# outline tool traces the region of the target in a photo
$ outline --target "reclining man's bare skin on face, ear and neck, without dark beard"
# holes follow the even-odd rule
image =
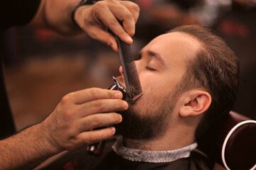
[[[133,108],[135,114],[143,119],[154,117],[154,114],[166,114],[161,110],[155,112],[157,106],[174,107],[165,116],[162,122],[165,128],[162,128],[162,131],[145,139],[124,138],[126,147],[170,150],[194,142],[194,131],[201,116],[211,104],[211,96],[204,89],[182,91],[176,98],[173,98],[172,94],[186,74],[187,59],[193,59],[199,47],[200,43],[190,35],[167,33],[155,38],[141,50],[141,58],[135,63],[144,96],[133,106],[129,106],[129,109]],[[119,71],[121,77],[118,77],[118,80],[125,86],[121,67]],[[163,96],[169,103],[162,102]]]

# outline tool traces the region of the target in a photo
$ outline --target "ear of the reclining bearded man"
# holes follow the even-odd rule
[[[187,117],[189,115],[201,115],[211,105],[211,95],[206,91],[192,89],[182,95],[182,107],[179,115]]]

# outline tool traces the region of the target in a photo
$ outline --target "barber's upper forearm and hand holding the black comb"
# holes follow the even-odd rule
[[[81,0],[41,0],[40,7],[28,26],[47,28],[62,35],[86,33],[89,37],[109,45],[118,51],[116,39],[108,33],[108,29],[121,38],[123,42],[132,43],[135,23],[140,8],[131,1],[105,0],[94,5],[82,5],[74,13],[72,11]],[[118,23],[122,21],[123,27]]]

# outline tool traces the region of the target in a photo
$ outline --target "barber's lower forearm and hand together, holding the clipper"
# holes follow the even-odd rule
[[[67,94],[42,123],[0,141],[0,169],[33,169],[62,151],[106,140],[122,120],[115,112],[128,108],[121,98],[121,91],[97,88]]]

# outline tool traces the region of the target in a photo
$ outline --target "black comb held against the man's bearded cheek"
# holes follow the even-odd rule
[[[114,35],[118,44],[119,57],[123,68],[123,77],[126,82],[126,92],[130,103],[135,103],[143,96],[143,90],[140,86],[140,78],[138,77],[137,68],[134,62],[133,51],[131,45],[123,42]],[[140,94],[140,96],[138,96]]]

